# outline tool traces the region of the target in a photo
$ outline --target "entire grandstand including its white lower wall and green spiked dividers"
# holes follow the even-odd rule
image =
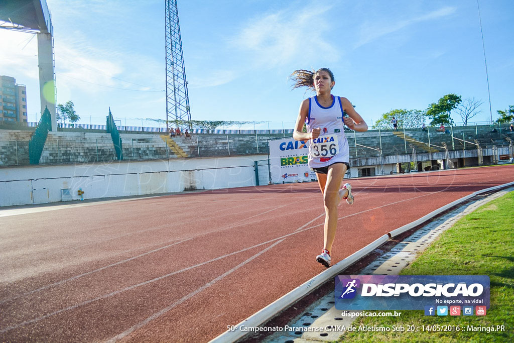
[[[191,130],[169,137],[163,128],[0,124],[0,206],[226,189],[270,183],[269,140],[292,130]],[[494,129],[494,130],[493,130]],[[449,133],[347,131],[346,177],[512,163],[507,125],[453,127]],[[80,190],[83,193],[77,193]]]

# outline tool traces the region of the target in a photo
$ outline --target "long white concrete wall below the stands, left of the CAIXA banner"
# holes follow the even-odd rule
[[[0,169],[0,206],[255,185],[254,161],[267,155],[188,158]]]

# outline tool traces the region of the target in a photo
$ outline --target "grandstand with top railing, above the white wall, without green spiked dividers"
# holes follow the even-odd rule
[[[48,132],[39,165],[67,163],[105,163],[120,159],[106,125],[64,124],[58,132]],[[0,124],[0,166],[28,165],[28,143],[36,123]],[[492,132],[494,128],[494,132]],[[262,155],[267,158],[268,140],[291,137],[292,130],[206,130],[193,129],[192,137],[171,138],[163,128],[117,128],[121,137],[123,160],[229,157]],[[351,167],[375,168],[371,175],[382,174],[382,164],[411,163],[411,169],[429,170],[492,164],[512,157],[514,133],[508,125],[453,127],[450,133],[406,129],[405,131],[347,131]],[[506,153],[492,154],[492,149]],[[509,148],[510,147],[510,148]],[[479,161],[479,149],[482,160]],[[506,149],[506,150],[501,150]],[[510,149],[510,150],[509,150]],[[415,158],[414,158],[415,157]],[[383,159],[383,161],[381,160]],[[439,162],[436,162],[439,160]],[[443,161],[441,164],[440,161]],[[393,172],[401,172],[397,166]],[[388,169],[388,173],[391,169]],[[365,173],[364,173],[365,174]],[[369,175],[369,174],[365,174]]]

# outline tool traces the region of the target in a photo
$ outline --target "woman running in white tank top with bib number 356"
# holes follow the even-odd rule
[[[336,237],[337,206],[341,199],[346,199],[349,205],[354,203],[350,184],[346,183],[339,189],[350,167],[350,150],[343,125],[359,132],[367,131],[368,125],[348,99],[331,94],[336,82],[328,68],[316,72],[295,70],[291,79],[295,82],[293,88],[306,86],[316,91],[316,96],[303,100],[300,105],[293,138],[304,141],[311,139],[308,166],[316,172],[325,206],[323,250],[316,261],[329,267]],[[349,117],[345,117],[346,114]],[[302,132],[304,123],[307,132]]]

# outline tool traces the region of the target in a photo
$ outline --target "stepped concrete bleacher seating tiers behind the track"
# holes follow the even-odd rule
[[[0,165],[28,165],[28,141],[32,130],[9,130],[11,127],[0,125]],[[427,131],[420,129],[403,130],[370,130],[368,132],[346,131],[351,158],[367,158],[416,153],[442,152],[443,145],[449,151],[476,149],[475,141],[482,148],[492,146],[508,146],[507,138],[514,139],[514,133],[508,130],[508,125],[473,125],[453,127],[452,133],[436,132],[435,128]],[[32,128],[30,128],[32,129]],[[237,133],[237,130],[212,131],[216,133],[193,133],[191,139],[184,137],[170,138],[162,132],[125,132],[120,131],[123,146],[123,159],[168,159],[187,157],[209,157],[248,154],[267,154],[268,139],[290,136],[272,130],[253,133]],[[429,139],[430,136],[430,139]],[[468,142],[464,142],[466,140]],[[257,144],[258,141],[258,144]],[[470,143],[469,143],[470,142]],[[430,146],[429,146],[430,143]],[[116,160],[113,141],[110,134],[103,130],[66,129],[49,132],[40,164],[92,163]]]

